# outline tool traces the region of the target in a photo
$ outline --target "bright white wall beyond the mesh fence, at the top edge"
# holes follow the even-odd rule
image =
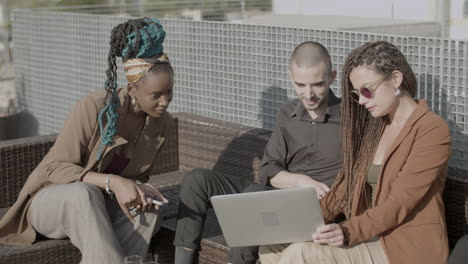
[[[438,0],[273,0],[274,14],[342,15],[433,21],[437,18],[437,8]]]

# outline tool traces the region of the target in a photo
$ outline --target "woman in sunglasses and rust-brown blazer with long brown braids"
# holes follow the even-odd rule
[[[343,166],[321,200],[313,242],[260,249],[267,263],[446,263],[445,121],[416,100],[404,55],[385,41],[354,49],[343,70]]]

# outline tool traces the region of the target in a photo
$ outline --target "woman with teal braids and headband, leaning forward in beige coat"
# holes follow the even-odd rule
[[[30,244],[37,233],[69,237],[81,263],[122,263],[145,256],[166,201],[145,184],[172,118],[173,69],[163,53],[165,32],[157,19],[129,20],[110,38],[105,90],[71,110],[54,146],[31,173],[0,222],[0,242]],[[121,57],[127,89],[117,89]]]

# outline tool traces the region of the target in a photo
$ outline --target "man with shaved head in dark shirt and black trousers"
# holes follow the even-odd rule
[[[292,54],[289,77],[299,99],[281,108],[261,173],[275,188],[313,186],[323,195],[341,165],[340,100],[329,88],[336,71],[328,51],[319,43],[300,44]],[[185,175],[174,240],[175,264],[193,263],[211,196],[271,188],[214,170],[195,169]],[[258,247],[240,247],[231,249],[228,261],[253,264],[257,258]]]

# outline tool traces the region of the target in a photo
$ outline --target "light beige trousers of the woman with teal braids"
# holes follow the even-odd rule
[[[31,224],[48,238],[70,238],[82,254],[81,263],[123,263],[128,255],[143,258],[159,229],[157,211],[137,213],[135,224],[116,199],[98,187],[75,182],[41,190],[29,211]]]

